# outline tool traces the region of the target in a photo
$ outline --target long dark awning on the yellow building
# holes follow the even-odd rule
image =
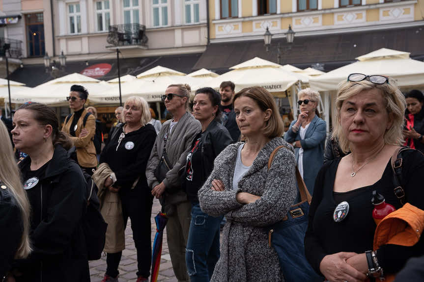
[[[325,72],[352,63],[356,57],[380,48],[407,51],[411,53],[411,58],[415,58],[424,55],[424,30],[420,30],[423,26],[295,37],[291,47],[285,38],[273,39],[268,52],[265,51],[263,40],[213,43],[199,58],[194,70],[205,68],[222,73],[256,56],[277,62],[279,42],[281,65],[291,64],[304,69],[315,63],[323,63]]]

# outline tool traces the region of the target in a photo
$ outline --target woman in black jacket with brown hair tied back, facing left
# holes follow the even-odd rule
[[[41,103],[18,108],[12,130],[15,148],[28,156],[19,163],[31,206],[32,253],[16,260],[17,282],[90,281],[82,219],[87,195],[81,168],[66,150],[56,112]]]

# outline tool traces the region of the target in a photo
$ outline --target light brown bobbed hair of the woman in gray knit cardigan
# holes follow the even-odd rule
[[[271,109],[271,117],[266,122],[263,134],[268,138],[281,137],[284,133],[284,123],[280,116],[274,97],[265,88],[259,86],[243,88],[234,96],[233,103],[240,97],[249,97],[265,112]]]

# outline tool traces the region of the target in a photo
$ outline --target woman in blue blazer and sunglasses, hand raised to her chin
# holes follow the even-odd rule
[[[318,116],[318,92],[306,88],[297,97],[300,113],[285,132],[284,140],[292,143],[300,174],[312,194],[316,174],[324,162],[326,123]]]

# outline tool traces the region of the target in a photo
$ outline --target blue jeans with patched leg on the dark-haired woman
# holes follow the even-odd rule
[[[220,257],[220,223],[223,216],[213,217],[192,205],[186,249],[187,270],[191,282],[209,282]]]

